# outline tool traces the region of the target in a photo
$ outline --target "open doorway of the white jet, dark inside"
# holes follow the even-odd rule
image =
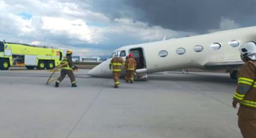
[[[141,47],[130,49],[130,53],[133,54],[133,58],[137,63],[136,67],[136,75],[134,77],[135,80],[146,80],[147,76],[147,68],[146,68],[146,58]]]

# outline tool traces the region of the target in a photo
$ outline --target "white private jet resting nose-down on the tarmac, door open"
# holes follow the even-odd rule
[[[111,77],[112,71],[108,68],[111,58],[117,53],[125,60],[126,55],[133,53],[137,61],[137,77],[181,68],[201,68],[226,70],[231,78],[236,79],[237,70],[243,64],[239,47],[248,41],[256,42],[256,26],[123,46],[88,74]],[[125,70],[122,70],[123,74]]]

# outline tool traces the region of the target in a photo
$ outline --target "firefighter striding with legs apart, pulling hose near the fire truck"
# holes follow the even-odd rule
[[[60,77],[58,77],[55,83],[55,87],[59,86],[60,82],[65,78],[66,74],[70,78],[70,81],[72,84],[71,86],[72,87],[77,86],[75,82],[75,75],[73,74],[73,70],[77,70],[78,67],[76,67],[72,62],[72,53],[73,52],[71,49],[67,50],[66,57],[64,57],[63,60],[61,61],[60,65],[63,65],[63,64],[67,64],[67,65],[63,65],[63,67],[61,67]]]

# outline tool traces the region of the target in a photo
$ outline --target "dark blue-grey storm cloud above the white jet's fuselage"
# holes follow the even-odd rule
[[[136,16],[137,20],[181,31],[219,28],[222,17],[247,26],[246,20],[256,16],[255,0],[129,0],[127,3],[145,13],[146,16]]]

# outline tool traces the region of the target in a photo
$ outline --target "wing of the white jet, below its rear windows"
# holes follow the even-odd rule
[[[245,62],[239,60],[239,61],[213,61],[213,62],[207,62],[204,64],[205,68],[240,68]]]

